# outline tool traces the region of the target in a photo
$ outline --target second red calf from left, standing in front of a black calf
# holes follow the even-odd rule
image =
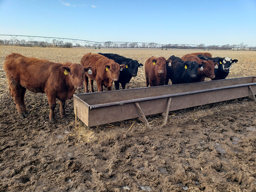
[[[93,81],[95,80],[98,87],[98,92],[103,91],[104,87],[107,87],[107,91],[111,91],[113,81],[117,81],[121,68],[125,68],[125,65],[119,65],[112,59],[96,54],[87,53],[81,59],[81,65],[92,66],[92,74],[86,73],[84,84],[85,92],[88,93],[88,80],[90,79],[90,90],[93,90]],[[88,79],[89,78],[89,79]]]

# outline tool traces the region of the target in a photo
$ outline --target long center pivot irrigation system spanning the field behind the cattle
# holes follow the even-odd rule
[[[117,44],[118,47],[120,47],[122,44],[137,44],[137,45],[145,45],[146,47],[149,48],[161,48],[162,50],[165,49],[167,50],[167,46],[191,46],[191,47],[200,47],[202,49],[207,49],[207,46],[205,45],[196,45],[196,44],[158,44],[158,43],[143,43],[143,42],[119,42],[119,41],[105,41],[105,42],[96,42],[96,41],[88,41],[88,40],[83,40],[83,39],[70,39],[70,38],[60,38],[60,37],[45,37],[45,36],[26,36],[26,35],[0,35],[2,36],[1,38],[12,38],[12,39],[18,39],[18,37],[27,37],[28,41],[34,41],[36,39],[39,39],[39,41],[42,39],[44,39],[45,42],[52,42],[53,39],[56,39],[60,42],[73,42],[73,43],[77,43],[77,42],[84,42],[84,44],[92,44],[93,46],[95,46],[95,48],[99,48],[100,49],[100,44],[105,44],[105,43],[112,43],[112,44]],[[35,39],[36,38],[36,39]],[[163,48],[164,47],[164,48]],[[126,47],[125,47],[126,48]]]

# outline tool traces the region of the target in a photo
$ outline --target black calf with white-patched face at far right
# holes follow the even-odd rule
[[[212,60],[213,62],[219,63],[219,67],[214,69],[215,78],[212,80],[225,79],[228,76],[229,69],[232,63],[236,63],[238,60],[230,57],[206,57],[204,55],[197,55],[200,59],[203,60]]]

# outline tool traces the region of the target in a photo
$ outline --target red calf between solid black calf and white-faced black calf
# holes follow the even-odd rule
[[[210,79],[215,78],[214,67],[216,65],[219,66],[218,63],[213,63],[212,60],[201,60],[196,55],[191,54],[183,55],[180,59],[182,59],[183,61],[196,61],[198,64],[205,64],[203,70],[200,70],[200,68],[198,69],[197,77],[194,82],[202,82],[204,81],[205,77],[208,77]]]

